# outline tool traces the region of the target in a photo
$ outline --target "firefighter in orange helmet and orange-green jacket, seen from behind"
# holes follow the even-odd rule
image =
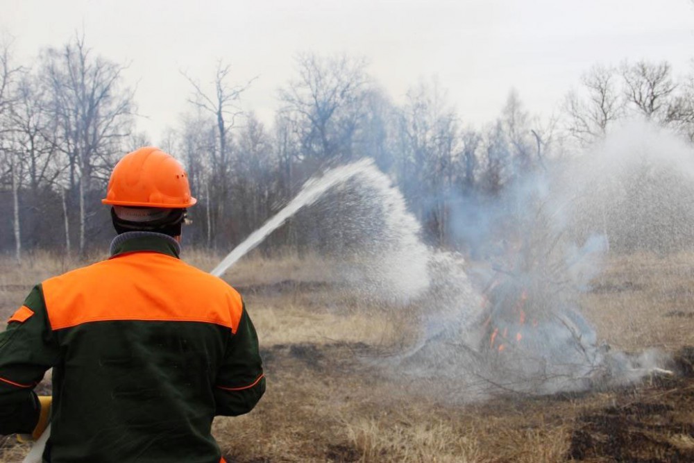
[[[265,390],[255,328],[223,280],[179,260],[187,174],[153,147],[112,171],[110,258],[35,286],[0,333],[0,434],[44,462],[218,463],[216,415]],[[34,387],[53,368],[53,396]]]

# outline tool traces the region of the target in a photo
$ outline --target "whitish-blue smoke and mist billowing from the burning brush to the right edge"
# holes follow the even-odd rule
[[[691,247],[693,174],[688,146],[632,123],[493,201],[460,201],[454,232],[471,260],[432,253],[421,337],[391,371],[475,398],[621,385],[663,367],[659,351],[602,344],[581,300],[608,252]]]

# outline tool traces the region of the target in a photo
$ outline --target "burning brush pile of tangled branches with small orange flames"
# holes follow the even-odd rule
[[[566,260],[555,249],[535,253],[523,242],[505,266],[493,265],[477,320],[480,374],[498,387],[540,394],[586,389],[610,375],[609,346],[598,344],[579,310],[583,287],[576,278],[584,275],[573,271],[600,247],[596,240]]]

